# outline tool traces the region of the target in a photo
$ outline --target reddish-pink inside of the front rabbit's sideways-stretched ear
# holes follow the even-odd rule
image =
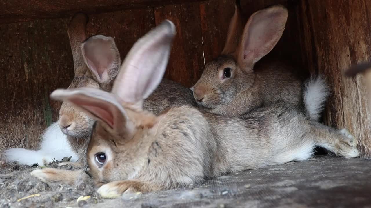
[[[114,127],[114,117],[111,111],[108,111],[109,107],[104,103],[94,103],[91,105],[88,102],[80,101],[79,99],[71,99],[71,102],[89,111],[91,114],[100,118],[102,121],[107,123],[111,128]]]

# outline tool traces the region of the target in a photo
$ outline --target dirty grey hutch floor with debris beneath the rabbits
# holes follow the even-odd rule
[[[92,184],[83,181],[74,185],[41,182],[29,174],[41,168],[36,166],[13,163],[0,170],[1,208],[371,207],[371,161],[359,158],[317,156],[311,161],[247,170],[203,184],[118,199],[102,199]]]

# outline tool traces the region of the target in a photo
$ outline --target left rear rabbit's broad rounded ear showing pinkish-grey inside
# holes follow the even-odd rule
[[[100,84],[114,80],[121,64],[120,53],[112,37],[95,35],[81,44],[86,66]]]

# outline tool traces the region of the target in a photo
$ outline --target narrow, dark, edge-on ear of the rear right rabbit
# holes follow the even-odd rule
[[[243,23],[242,23],[242,14],[240,0],[234,2],[234,14],[229,23],[227,41],[224,45],[222,55],[228,55],[236,51],[237,45],[239,43],[239,38],[242,34]]]

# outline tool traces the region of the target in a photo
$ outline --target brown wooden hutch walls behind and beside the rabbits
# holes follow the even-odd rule
[[[328,102],[325,122],[347,127],[360,148],[371,145],[362,77],[342,75],[350,63],[370,55],[367,0],[242,0],[247,16],[270,4],[289,9],[286,30],[269,57],[295,65],[299,73],[325,73],[334,94]],[[216,57],[224,45],[233,0],[209,0],[128,9],[89,15],[89,35],[115,38],[124,58],[132,44],[164,19],[177,26],[173,50],[165,74],[190,87],[200,77],[204,63]],[[70,17],[69,17],[70,18]],[[0,151],[10,147],[36,148],[40,133],[57,119],[60,103],[49,100],[58,87],[73,77],[73,61],[66,23],[69,18],[33,20],[0,25]],[[0,164],[3,162],[0,157]]]

